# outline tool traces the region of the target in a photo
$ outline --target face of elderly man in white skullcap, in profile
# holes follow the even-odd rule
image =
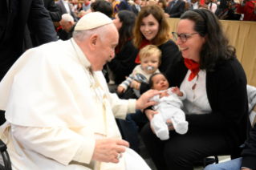
[[[99,42],[95,50],[95,62],[91,63],[93,71],[101,71],[107,62],[110,62],[115,57],[115,48],[118,44],[119,34],[116,26],[109,26],[109,32],[105,35],[104,41]]]

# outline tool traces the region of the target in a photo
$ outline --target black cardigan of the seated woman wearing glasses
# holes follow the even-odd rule
[[[184,60],[177,59],[165,72],[169,87],[180,87],[187,71]],[[226,61],[215,71],[206,71],[206,93],[213,112],[186,115],[190,127],[213,130],[226,136],[234,156],[239,156],[239,146],[250,130],[246,84],[246,74],[238,59]]]

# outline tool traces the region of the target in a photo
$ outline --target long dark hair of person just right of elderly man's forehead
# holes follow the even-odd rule
[[[136,20],[136,14],[128,10],[121,10],[117,13],[118,18],[120,18],[120,22],[123,22],[123,25],[120,27],[119,30],[119,44],[118,47],[120,51],[124,47],[125,43],[127,42],[128,38],[131,38],[132,30]]]

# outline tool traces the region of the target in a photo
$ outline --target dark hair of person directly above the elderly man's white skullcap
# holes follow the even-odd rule
[[[95,12],[97,12],[97,11],[101,12],[101,13],[107,15],[109,18],[112,18],[113,9],[109,2],[106,2],[104,0],[98,0],[91,4],[91,8]]]

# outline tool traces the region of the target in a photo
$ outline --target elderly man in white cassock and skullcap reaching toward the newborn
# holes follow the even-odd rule
[[[121,140],[116,118],[144,109],[157,91],[121,100],[101,70],[119,35],[101,13],[85,15],[73,38],[26,51],[0,83],[0,135],[13,169],[147,170]]]

